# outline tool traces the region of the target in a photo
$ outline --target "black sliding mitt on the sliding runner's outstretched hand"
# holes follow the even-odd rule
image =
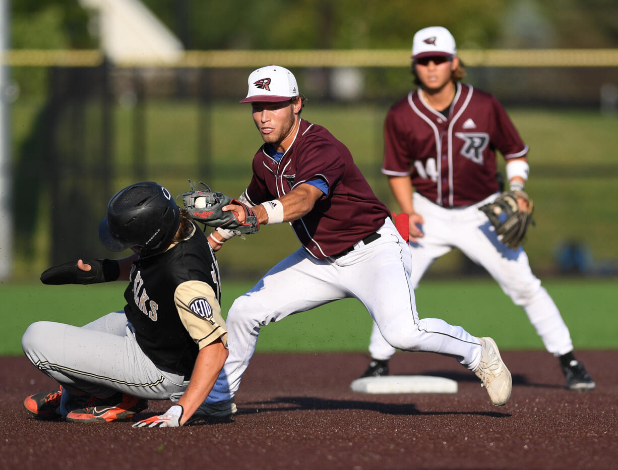
[[[43,284],[96,284],[117,281],[120,275],[120,265],[116,260],[82,260],[90,265],[90,271],[82,271],[77,267],[77,261],[62,263],[43,271]]]

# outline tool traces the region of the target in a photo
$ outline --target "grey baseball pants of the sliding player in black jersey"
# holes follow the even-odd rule
[[[83,327],[36,322],[22,336],[28,359],[69,393],[99,398],[117,391],[147,400],[178,401],[188,378],[158,368],[135,340],[124,312],[112,312]]]

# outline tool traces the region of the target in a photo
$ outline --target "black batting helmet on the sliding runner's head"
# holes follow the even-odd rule
[[[132,246],[155,252],[172,241],[180,224],[180,208],[160,184],[143,181],[119,190],[99,224],[99,239],[112,251]]]

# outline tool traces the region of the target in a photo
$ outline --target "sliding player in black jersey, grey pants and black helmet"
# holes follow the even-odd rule
[[[228,354],[213,250],[155,182],[132,184],[114,195],[99,238],[112,251],[131,248],[135,255],[64,263],[46,270],[41,281],[128,280],[124,312],[82,328],[30,325],[23,351],[61,387],[28,396],[23,404],[44,419],[109,422],[143,411],[147,400],[172,400],[164,414],[134,426],[181,426],[210,392]]]

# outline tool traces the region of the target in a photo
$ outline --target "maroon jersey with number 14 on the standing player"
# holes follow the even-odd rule
[[[528,152],[493,95],[457,83],[444,116],[417,90],[386,116],[382,173],[410,175],[417,192],[444,207],[470,205],[498,190],[496,149],[506,160]]]

